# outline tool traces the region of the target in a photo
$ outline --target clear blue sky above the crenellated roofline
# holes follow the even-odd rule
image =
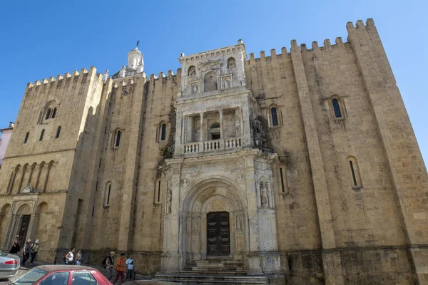
[[[126,65],[137,38],[145,71],[174,72],[178,56],[230,46],[248,53],[347,38],[346,23],[373,18],[424,160],[428,162],[428,1],[4,1],[0,128],[19,110],[26,83],[96,66]],[[290,49],[289,49],[290,50]]]

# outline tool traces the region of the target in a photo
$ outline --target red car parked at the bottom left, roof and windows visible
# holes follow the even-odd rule
[[[37,266],[9,281],[10,285],[111,285],[100,271],[77,265]]]

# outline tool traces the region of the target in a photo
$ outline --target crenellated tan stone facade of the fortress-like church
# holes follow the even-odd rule
[[[347,31],[260,58],[242,41],[182,54],[148,78],[134,48],[113,76],[29,83],[2,247],[21,234],[47,261],[126,251],[150,274],[221,257],[275,284],[427,283],[427,170],[374,22]]]

